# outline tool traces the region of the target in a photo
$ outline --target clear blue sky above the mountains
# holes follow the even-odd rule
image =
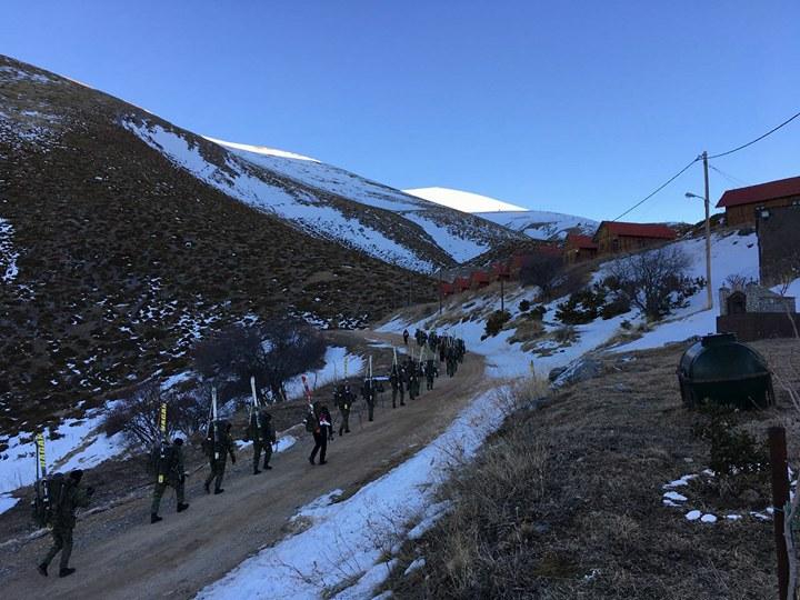
[[[800,111],[800,2],[3,0],[0,52],[398,188],[612,219]],[[714,166],[800,174],[800,119]],[[692,168],[628,219],[702,217]]]

